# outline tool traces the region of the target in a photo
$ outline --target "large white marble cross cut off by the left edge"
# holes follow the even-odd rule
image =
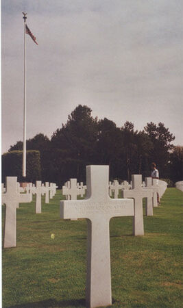
[[[16,247],[16,206],[17,203],[32,201],[31,194],[17,192],[17,177],[6,177],[6,192],[2,196],[5,209],[4,248]]]

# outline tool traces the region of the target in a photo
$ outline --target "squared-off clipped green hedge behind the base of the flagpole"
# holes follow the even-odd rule
[[[17,177],[18,181],[25,181],[22,177],[23,151],[10,151],[2,155],[2,181],[5,177]],[[41,177],[39,151],[27,151],[26,181],[35,182]]]

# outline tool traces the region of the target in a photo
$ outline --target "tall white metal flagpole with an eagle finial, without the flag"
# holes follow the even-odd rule
[[[26,17],[27,13],[23,12],[24,19],[24,92],[23,92],[23,177],[26,177]]]

